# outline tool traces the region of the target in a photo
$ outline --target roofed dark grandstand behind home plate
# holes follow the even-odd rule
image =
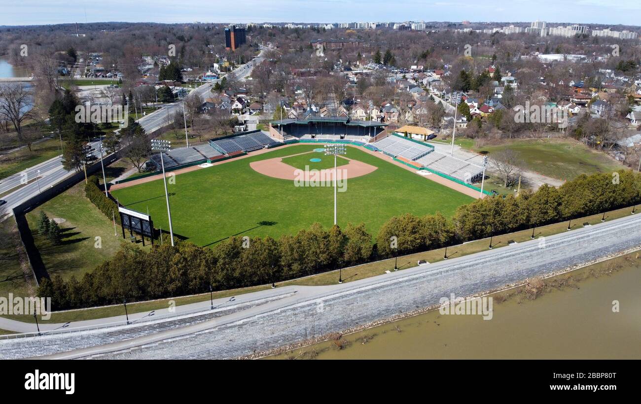
[[[368,142],[369,139],[383,132],[387,123],[350,120],[345,116],[308,116],[308,118],[301,120],[272,121],[270,125],[285,140],[290,138],[346,139]]]

